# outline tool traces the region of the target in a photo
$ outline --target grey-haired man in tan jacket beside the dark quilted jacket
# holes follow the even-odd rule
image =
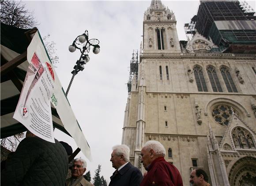
[[[86,171],[86,161],[81,158],[76,158],[71,169],[71,178],[66,180],[66,186],[93,186],[83,177]]]

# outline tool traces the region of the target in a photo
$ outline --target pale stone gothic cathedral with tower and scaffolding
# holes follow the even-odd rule
[[[188,41],[179,41],[174,13],[161,0],[144,13],[122,144],[144,173],[142,146],[160,141],[184,186],[195,168],[207,172],[211,186],[255,186],[255,11],[237,0],[201,0],[184,25]]]

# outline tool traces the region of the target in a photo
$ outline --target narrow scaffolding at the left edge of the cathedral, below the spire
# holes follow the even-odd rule
[[[130,60],[130,68],[129,68],[129,80],[127,83],[127,88],[128,88],[128,94],[130,95],[130,92],[132,90],[132,80],[135,78],[136,83],[137,83],[137,78],[138,78],[138,50],[133,50],[132,52],[132,60]]]

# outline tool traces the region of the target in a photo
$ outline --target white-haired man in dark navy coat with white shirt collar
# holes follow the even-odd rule
[[[110,161],[116,169],[110,177],[109,186],[139,186],[143,176],[137,167],[129,162],[130,149],[127,145],[113,147]]]

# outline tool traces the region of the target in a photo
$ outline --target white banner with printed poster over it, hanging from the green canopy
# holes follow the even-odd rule
[[[68,102],[60,80],[37,31],[27,48],[30,63],[21,96],[13,116],[38,137],[54,142],[51,103],[64,128],[83,154],[92,161],[90,146]]]

